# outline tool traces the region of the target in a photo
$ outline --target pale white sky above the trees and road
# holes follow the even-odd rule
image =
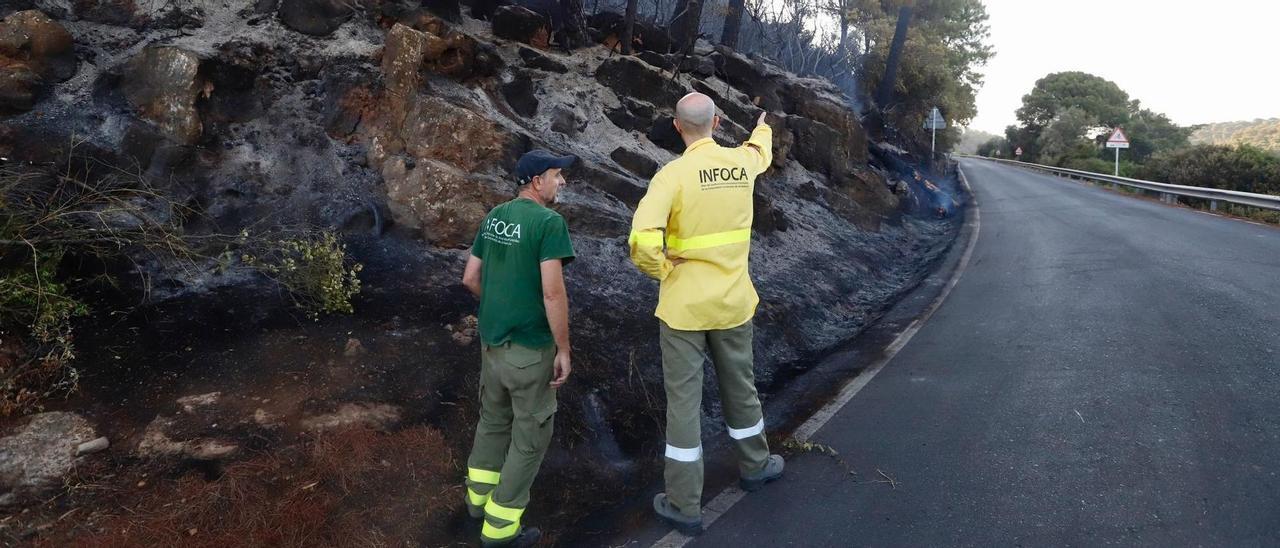
[[[1004,134],[1048,73],[1110,79],[1179,125],[1280,117],[1280,1],[984,0],[996,56],[970,128]]]

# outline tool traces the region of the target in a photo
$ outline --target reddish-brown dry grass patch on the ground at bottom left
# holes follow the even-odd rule
[[[443,437],[347,429],[122,494],[118,507],[40,545],[378,547],[443,544],[460,472]],[[129,498],[124,501],[123,498]],[[88,530],[86,530],[88,529]]]

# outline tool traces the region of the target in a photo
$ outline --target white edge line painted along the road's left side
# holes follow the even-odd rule
[[[831,417],[836,416],[836,414],[840,412],[840,410],[845,407],[845,405],[849,403],[849,401],[852,399],[854,396],[856,396],[858,392],[867,385],[867,383],[870,383],[872,379],[876,378],[876,374],[879,373],[882,369],[884,369],[884,366],[893,360],[893,356],[897,356],[897,352],[901,351],[902,347],[905,347],[906,343],[911,341],[911,337],[915,337],[915,333],[924,326],[924,323],[928,321],[929,318],[933,318],[933,312],[936,312],[938,307],[942,306],[942,302],[947,300],[948,294],[951,294],[951,289],[956,287],[956,283],[960,282],[960,277],[964,274],[965,268],[969,266],[969,257],[973,256],[973,248],[978,243],[978,230],[982,229],[982,213],[978,210],[978,198],[973,193],[973,187],[969,186],[969,179],[965,177],[964,172],[960,170],[959,168],[956,169],[956,172],[960,174],[960,182],[969,192],[969,198],[973,200],[973,219],[970,219],[966,223],[973,225],[973,236],[969,237],[969,243],[965,246],[964,255],[960,257],[960,264],[956,266],[955,274],[951,275],[951,279],[947,282],[947,286],[942,289],[942,293],[940,293],[938,297],[933,300],[933,302],[929,305],[929,309],[924,312],[924,315],[918,318],[915,321],[911,321],[911,324],[908,325],[906,329],[899,333],[897,338],[893,339],[893,343],[891,343],[888,348],[886,348],[884,357],[882,357],[874,365],[864,370],[860,375],[850,379],[845,384],[845,387],[841,388],[840,394],[836,396],[836,399],[828,402],[826,406],[818,410],[818,412],[813,414],[813,416],[810,416],[809,420],[804,421],[804,424],[801,424],[800,428],[796,429],[794,437],[797,440],[808,442],[809,438],[813,437],[813,434],[815,434],[818,429],[826,425],[827,421],[831,420]],[[730,487],[722,490],[719,494],[716,496],[716,498],[712,499],[712,502],[707,503],[707,506],[703,507],[703,526],[710,528],[712,524],[716,522],[716,520],[719,520],[721,516],[724,515],[724,512],[728,512],[728,510],[732,508],[733,504],[737,504],[737,502],[741,501],[744,496],[746,496],[746,492],[736,487]],[[667,536],[663,536],[657,543],[654,543],[653,548],[682,548],[685,544],[689,544],[689,542],[692,539],[694,539],[692,536],[672,530],[671,533],[667,534]]]

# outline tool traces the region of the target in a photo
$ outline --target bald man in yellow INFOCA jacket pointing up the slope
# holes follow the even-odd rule
[[[740,147],[712,140],[716,104],[689,93],[676,104],[685,154],[653,177],[631,225],[631,261],[662,282],[657,316],[667,388],[666,493],[654,511],[678,530],[701,531],[703,361],[709,352],[719,380],[728,435],[741,485],[755,490],[782,476],[769,455],[755,391],[751,316],[760,302],[748,273],[755,178],[773,161],[773,132],[764,114]]]

